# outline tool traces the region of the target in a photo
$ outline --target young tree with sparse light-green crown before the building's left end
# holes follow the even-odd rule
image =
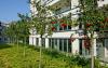
[[[46,36],[52,33],[51,30],[51,19],[52,17],[48,16],[51,15],[49,13],[49,8],[45,5],[42,5],[39,2],[30,2],[31,4],[36,5],[38,14],[36,14],[36,16],[31,17],[31,27],[36,28],[37,35],[40,35],[40,39],[41,39],[41,44],[40,44],[40,64],[39,64],[39,68],[41,68],[41,52],[42,49],[41,46],[43,45],[43,41],[42,41],[42,37],[43,35],[46,33]]]

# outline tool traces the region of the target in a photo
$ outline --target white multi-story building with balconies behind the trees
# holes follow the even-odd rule
[[[64,17],[64,16],[67,16],[68,14],[71,14],[71,19],[77,19],[79,17],[79,10],[80,10],[78,8],[79,0],[41,0],[41,2],[44,5],[52,6],[55,10],[54,15],[58,17]],[[98,1],[98,6],[103,6],[106,3],[108,3],[108,0],[100,0]],[[35,11],[36,10],[35,6],[30,6],[30,8],[33,15],[38,13],[38,11]],[[76,27],[66,26],[66,28],[58,27],[57,30],[54,31],[51,37],[43,36],[42,41],[45,47],[51,47],[57,51],[68,52],[72,54],[78,53],[81,55],[90,55],[90,52],[84,46],[84,40],[81,37],[82,32],[79,33],[79,31],[82,31],[80,25]],[[41,44],[40,35],[37,35],[37,32],[33,29],[30,30],[30,33],[31,35],[29,36],[29,44],[40,45]],[[69,41],[71,35],[73,35],[73,37],[76,38],[73,42]],[[103,47],[104,51],[100,51],[102,49],[97,47],[97,45],[100,43],[97,43],[98,40],[96,39],[94,40],[93,46],[94,46],[95,56],[99,55],[100,52],[103,52],[103,54],[107,52],[107,54],[105,54],[104,56],[106,55],[108,56],[107,41],[108,39],[105,39],[104,44],[106,46]]]

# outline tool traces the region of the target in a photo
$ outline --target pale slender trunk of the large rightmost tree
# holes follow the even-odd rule
[[[94,68],[94,35],[91,33],[91,68]]]

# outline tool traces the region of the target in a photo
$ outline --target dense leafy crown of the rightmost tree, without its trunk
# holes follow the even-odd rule
[[[106,29],[105,27],[108,25],[107,6],[98,8],[97,0],[80,0],[80,9],[81,16],[79,19],[87,32]]]

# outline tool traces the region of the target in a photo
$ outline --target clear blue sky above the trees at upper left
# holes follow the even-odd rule
[[[17,13],[29,13],[28,0],[0,0],[0,21],[9,23],[19,19]]]

